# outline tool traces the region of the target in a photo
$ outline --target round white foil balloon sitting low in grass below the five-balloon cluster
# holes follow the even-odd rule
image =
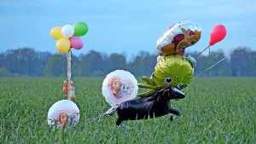
[[[47,122],[54,129],[55,126],[60,129],[66,124],[65,130],[68,130],[71,126],[79,123],[79,118],[79,107],[73,101],[61,100],[49,108]]]

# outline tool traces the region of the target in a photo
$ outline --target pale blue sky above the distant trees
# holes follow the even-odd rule
[[[0,52],[29,47],[57,54],[51,28],[84,21],[89,32],[75,55],[90,49],[128,57],[140,50],[154,53],[157,39],[178,20],[201,26],[201,40],[188,50],[206,48],[218,24],[226,26],[227,36],[212,51],[230,52],[238,46],[256,50],[255,0],[1,0],[0,18]]]

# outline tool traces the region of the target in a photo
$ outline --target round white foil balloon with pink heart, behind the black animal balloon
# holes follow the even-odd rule
[[[123,101],[129,101],[137,97],[137,79],[124,70],[115,70],[108,73],[102,83],[102,95],[112,107],[116,107]]]

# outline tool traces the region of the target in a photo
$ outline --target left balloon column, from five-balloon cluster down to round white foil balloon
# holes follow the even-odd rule
[[[79,123],[79,107],[73,102],[75,99],[75,88],[71,75],[71,50],[82,49],[84,42],[81,36],[88,32],[88,26],[84,22],[75,25],[55,26],[50,31],[50,36],[57,40],[56,49],[60,53],[67,53],[67,80],[64,80],[62,94],[67,95],[67,100],[55,102],[49,108],[48,124],[55,128],[67,131],[73,125]]]

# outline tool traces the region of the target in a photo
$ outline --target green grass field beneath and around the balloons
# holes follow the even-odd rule
[[[81,113],[79,124],[62,133],[51,130],[47,113],[61,95],[64,78],[0,78],[1,143],[255,143],[256,78],[195,78],[171,101],[182,116],[128,121],[99,117],[109,108],[103,78],[73,78]],[[141,82],[141,80],[138,78]]]

